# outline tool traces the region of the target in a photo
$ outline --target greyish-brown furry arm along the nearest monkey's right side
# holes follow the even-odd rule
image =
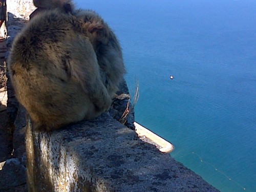
[[[77,81],[85,94],[88,94],[98,111],[108,110],[112,103],[100,77],[100,68],[97,56],[90,41],[84,37],[73,40],[74,49],[82,48],[81,51],[71,52],[70,58],[66,60],[68,73],[72,79]]]

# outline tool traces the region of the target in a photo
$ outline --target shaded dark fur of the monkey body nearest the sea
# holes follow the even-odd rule
[[[105,87],[114,92],[116,81],[125,73],[122,50],[113,31],[104,20],[90,10],[78,10],[74,13],[82,23],[82,31],[88,36],[97,55],[101,78]],[[115,72],[115,73],[113,73]]]

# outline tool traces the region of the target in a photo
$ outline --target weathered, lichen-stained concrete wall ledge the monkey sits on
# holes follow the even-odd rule
[[[30,191],[218,191],[107,114],[54,132],[27,126]]]

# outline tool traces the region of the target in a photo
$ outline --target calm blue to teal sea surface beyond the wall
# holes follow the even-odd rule
[[[136,121],[221,191],[256,191],[256,1],[75,2],[117,34]]]

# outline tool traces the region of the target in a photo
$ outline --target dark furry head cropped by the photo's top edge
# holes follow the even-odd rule
[[[74,11],[73,0],[33,0],[34,6],[40,10],[58,9],[65,13]]]

